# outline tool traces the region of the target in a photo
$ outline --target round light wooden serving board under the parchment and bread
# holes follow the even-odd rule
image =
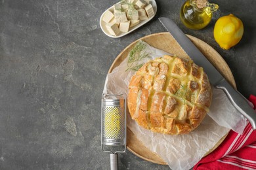
[[[192,37],[191,35],[187,35],[188,38],[198,47],[198,49],[204,54],[204,56],[215,65],[215,67],[223,74],[223,76],[236,88],[236,83],[234,81],[234,77],[230,71],[230,68],[224,61],[224,59],[221,57],[221,55],[216,52],[211,46],[209,46],[207,43],[201,41],[200,39],[197,39],[196,37]],[[165,32],[165,33],[155,33],[152,35],[147,35],[146,37],[142,37],[141,39],[138,39],[135,42],[132,42],[127,46],[114,60],[112,63],[112,66],[110,67],[110,70],[108,73],[111,73],[112,70],[117,67],[123,59],[125,59],[131,49],[133,49],[133,46],[138,41],[144,41],[150,44],[150,46],[153,46],[155,48],[158,48],[160,50],[163,50],[165,52],[169,52],[170,54],[177,54],[179,57],[188,58],[188,55],[184,50],[182,50],[181,46],[178,44],[178,42],[173,39],[173,37]],[[207,154],[212,152],[219,144],[221,144],[226,136],[224,136]],[[130,152],[135,154],[136,156],[139,156],[140,158],[151,161],[153,163],[158,163],[162,165],[167,165],[165,161],[163,161],[158,154],[151,152],[148,148],[146,148],[135,136],[133,131],[131,131],[129,128],[127,128],[127,148]]]

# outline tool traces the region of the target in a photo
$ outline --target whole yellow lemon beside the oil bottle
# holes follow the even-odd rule
[[[242,39],[243,34],[244,25],[233,14],[219,18],[213,29],[215,41],[225,50],[236,45]]]

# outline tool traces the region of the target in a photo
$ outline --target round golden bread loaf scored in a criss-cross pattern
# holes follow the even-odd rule
[[[209,111],[211,85],[191,59],[163,56],[145,63],[130,80],[128,107],[140,126],[171,135],[189,133]]]

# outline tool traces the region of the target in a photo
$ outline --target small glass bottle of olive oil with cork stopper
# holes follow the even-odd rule
[[[207,0],[187,0],[181,7],[182,23],[190,29],[202,29],[209,24],[219,6]]]

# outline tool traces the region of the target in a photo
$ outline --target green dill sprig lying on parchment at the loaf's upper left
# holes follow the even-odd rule
[[[150,58],[150,52],[146,53],[143,52],[143,50],[146,49],[146,44],[142,41],[137,42],[135,47],[129,52],[128,56],[128,61],[127,61],[127,69],[128,70],[133,70],[133,71],[138,71],[144,63],[138,64],[139,61],[141,61],[144,58]]]

